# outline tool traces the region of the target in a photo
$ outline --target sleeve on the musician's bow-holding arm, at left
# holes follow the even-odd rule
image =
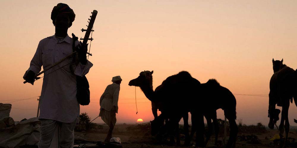
[[[36,52],[34,54],[34,57],[32,58],[32,60],[30,62],[30,67],[26,71],[25,75],[23,76],[24,78],[26,77],[27,73],[30,70],[32,70],[35,73],[35,75],[40,72],[41,66],[42,66],[41,49],[42,49],[42,43],[40,41],[39,44],[38,44],[38,46],[37,46],[37,50],[36,50]]]

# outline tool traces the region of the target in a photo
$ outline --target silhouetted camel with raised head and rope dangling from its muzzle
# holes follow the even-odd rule
[[[168,77],[160,86],[158,86],[158,89],[153,91],[152,74],[153,71],[141,72],[137,78],[129,82],[129,86],[139,86],[150,101],[156,104],[161,103],[163,119],[169,119],[169,127],[176,129],[178,128],[178,122],[181,118],[190,111],[191,107],[189,107],[189,105],[192,104],[192,99],[197,98],[195,91],[198,90],[200,82],[195,78],[192,78],[188,72],[182,71],[177,75]],[[187,99],[181,101],[181,98]],[[184,124],[186,136],[185,145],[189,145],[187,118],[184,118],[184,120],[186,120]],[[170,131],[173,132],[174,130]],[[177,145],[179,145],[178,137]]]

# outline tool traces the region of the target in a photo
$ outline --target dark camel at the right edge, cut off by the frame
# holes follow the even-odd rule
[[[288,119],[288,110],[290,102],[297,106],[297,72],[287,65],[283,64],[283,59],[281,61],[272,59],[273,72],[270,79],[270,92],[269,92],[269,107],[268,107],[268,117],[269,123],[268,127],[274,129],[278,118],[279,110],[275,109],[275,105],[282,107],[281,121],[279,124],[280,136],[283,137],[285,128],[285,141],[282,147],[286,147],[286,141],[288,133],[290,131],[290,124]],[[284,123],[285,122],[285,123]],[[285,124],[285,125],[284,125]]]

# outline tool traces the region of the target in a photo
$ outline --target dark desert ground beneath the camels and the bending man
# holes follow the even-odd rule
[[[181,145],[184,143],[184,135],[181,131]],[[291,127],[289,132],[290,142],[288,147],[297,147],[295,139],[297,139],[296,127]],[[89,131],[75,132],[76,138],[81,138],[89,141],[104,141],[108,131],[106,124],[93,124]],[[271,130],[263,125],[246,126],[239,125],[239,133],[236,142],[237,148],[266,148],[266,147],[279,147],[279,140],[270,140],[275,135],[278,135],[277,128]],[[223,128],[220,128],[218,140],[222,141],[221,146],[214,146],[214,134],[211,136],[207,147],[223,147]],[[228,135],[228,133],[227,133]],[[160,143],[156,136],[150,135],[149,123],[138,124],[116,124],[113,131],[113,137],[121,138],[122,146],[124,148],[177,148],[178,146],[169,146],[166,140]],[[194,137],[195,139],[195,137]],[[227,136],[228,139],[228,136]],[[169,137],[167,139],[169,141]],[[195,144],[194,140],[191,141],[191,147]],[[183,146],[181,146],[183,147]],[[180,147],[178,147],[180,148]]]

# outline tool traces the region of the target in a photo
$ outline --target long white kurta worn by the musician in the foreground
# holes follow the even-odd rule
[[[61,42],[58,42],[55,36],[42,39],[31,60],[29,70],[37,74],[40,72],[41,66],[43,66],[43,69],[47,69],[54,63],[71,54],[72,41],[72,38],[68,35],[65,37],[64,41]],[[79,44],[79,42],[77,42],[76,45],[77,44]],[[40,97],[39,119],[72,123],[78,118],[79,104],[76,100],[76,76],[70,71],[69,63],[71,62],[72,58],[66,59],[44,73]],[[79,63],[75,74],[86,75],[92,66],[93,64],[89,61],[86,65]],[[27,70],[27,72],[29,70]]]

